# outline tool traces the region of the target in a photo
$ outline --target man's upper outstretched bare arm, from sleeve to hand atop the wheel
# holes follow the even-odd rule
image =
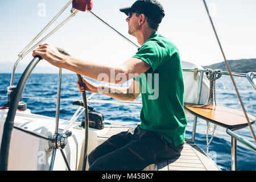
[[[65,68],[95,80],[112,82],[114,84],[123,84],[150,69],[150,65],[135,57],[115,67],[108,64],[97,64],[79,60],[61,54],[55,47],[48,44],[40,45],[39,48],[35,49],[32,56],[35,57],[36,55],[41,56],[42,59],[47,60],[58,68]]]

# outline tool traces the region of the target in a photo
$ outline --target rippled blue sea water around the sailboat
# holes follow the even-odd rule
[[[7,102],[6,88],[10,85],[11,74],[0,74],[0,107]],[[14,85],[19,81],[21,74],[16,74]],[[32,74],[28,79],[26,88],[23,92],[23,101],[27,103],[31,113],[55,117],[56,111],[56,95],[57,95],[57,74]],[[256,117],[256,91],[244,77],[235,77],[238,90],[240,91],[243,104],[247,113]],[[66,74],[62,77],[61,85],[61,106],[60,118],[71,119],[75,113],[77,106],[72,105],[74,100],[81,100],[81,93],[76,86],[77,76],[75,74]],[[121,85],[129,86],[129,84]],[[89,92],[86,96],[89,97]],[[26,98],[34,97],[34,98]],[[36,97],[36,99],[35,99]],[[95,94],[92,99],[95,100],[114,100],[104,96],[103,94]],[[217,105],[230,107],[233,109],[242,110],[240,102],[237,98],[234,86],[229,76],[222,76],[216,81],[216,100]],[[135,100],[141,102],[141,96]],[[135,127],[140,122],[139,114],[141,106],[135,105],[117,105],[117,104],[102,104],[88,103],[97,111],[104,114],[104,118],[111,121],[121,121],[124,126]],[[80,118],[82,119],[82,118]],[[109,123],[106,122],[105,125]],[[191,139],[193,119],[188,119],[186,130],[186,138]],[[213,129],[213,124],[210,125]],[[256,131],[255,125],[253,130]],[[203,119],[198,119],[196,128],[196,144],[207,151],[206,142],[207,125]],[[249,127],[235,131],[241,137],[254,143]],[[211,134],[209,133],[209,139]],[[217,163],[222,170],[231,169],[231,138],[226,134],[226,130],[217,126],[214,137],[209,146],[209,156]],[[256,155],[253,150],[250,150],[240,142],[237,142],[237,168],[238,170],[256,170]]]

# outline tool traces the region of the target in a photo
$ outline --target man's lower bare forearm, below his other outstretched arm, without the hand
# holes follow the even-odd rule
[[[108,85],[98,86],[98,93],[105,94],[106,96],[115,98],[122,101],[134,101],[135,95],[129,88],[113,87]]]

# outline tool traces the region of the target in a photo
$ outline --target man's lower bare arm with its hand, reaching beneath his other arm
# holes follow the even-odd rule
[[[129,88],[95,84],[94,82],[89,81],[83,77],[82,77],[82,81],[85,84],[85,88],[84,86],[80,86],[79,81],[77,81],[77,86],[80,92],[87,90],[88,92],[102,93],[102,94],[105,94],[106,96],[115,98],[117,100],[134,101],[141,93],[139,82],[135,80],[131,82],[131,85]]]

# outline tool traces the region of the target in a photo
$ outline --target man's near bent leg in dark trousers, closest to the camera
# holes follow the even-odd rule
[[[141,130],[141,129],[139,129]],[[140,171],[159,159],[180,155],[182,146],[173,147],[163,137],[150,131],[140,131],[137,139],[94,161],[89,170]]]

